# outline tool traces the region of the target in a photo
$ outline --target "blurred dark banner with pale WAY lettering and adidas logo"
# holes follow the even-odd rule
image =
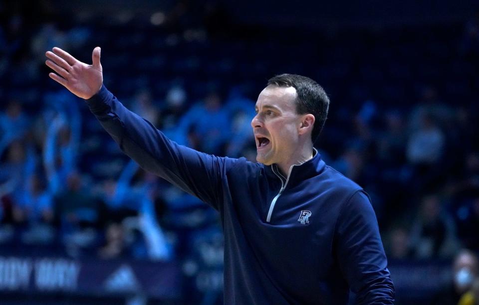
[[[0,256],[0,292],[72,292],[180,296],[181,271],[175,262],[72,260]]]

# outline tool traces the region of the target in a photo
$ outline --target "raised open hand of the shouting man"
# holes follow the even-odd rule
[[[77,60],[60,48],[45,53],[48,59],[45,64],[55,73],[49,73],[51,79],[65,86],[74,95],[89,99],[100,91],[103,84],[103,73],[100,64],[100,47],[93,49],[92,65]]]

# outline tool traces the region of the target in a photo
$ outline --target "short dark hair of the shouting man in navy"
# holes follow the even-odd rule
[[[309,77],[296,74],[280,74],[271,77],[267,86],[269,85],[296,89],[296,113],[310,113],[315,119],[311,133],[314,144],[324,127],[329,110],[329,98],[323,87]]]

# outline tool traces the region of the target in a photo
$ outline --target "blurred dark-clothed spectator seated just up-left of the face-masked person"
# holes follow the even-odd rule
[[[411,229],[411,250],[418,259],[451,257],[457,250],[453,220],[446,214],[441,198],[428,195],[422,198],[417,219]]]

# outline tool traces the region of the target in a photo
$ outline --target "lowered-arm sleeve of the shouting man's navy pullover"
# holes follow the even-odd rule
[[[356,304],[394,304],[391,281],[378,222],[369,196],[355,192],[337,224],[338,261]]]

